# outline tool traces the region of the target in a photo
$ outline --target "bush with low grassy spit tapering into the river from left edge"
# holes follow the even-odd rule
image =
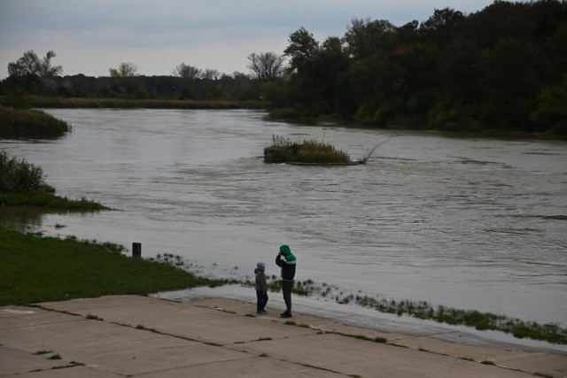
[[[0,204],[75,211],[110,210],[94,200],[56,196],[55,188],[45,182],[45,177],[41,166],[30,164],[25,158],[11,158],[4,150],[0,151]]]

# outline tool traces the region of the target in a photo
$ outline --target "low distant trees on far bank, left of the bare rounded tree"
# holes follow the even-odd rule
[[[0,83],[7,96],[63,96],[105,98],[160,98],[190,100],[252,100],[259,98],[259,83],[246,73],[227,75],[215,69],[201,70],[184,63],[171,75],[138,74],[134,63],[121,62],[109,68],[108,76],[60,76],[61,66],[52,66],[54,51],[38,58],[33,50],[8,65],[9,76]]]

